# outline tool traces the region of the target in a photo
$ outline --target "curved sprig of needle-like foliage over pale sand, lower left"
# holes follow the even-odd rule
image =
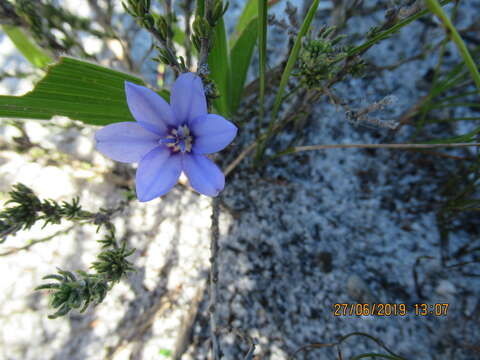
[[[66,315],[73,309],[80,309],[80,312],[83,312],[90,304],[101,303],[108,290],[128,272],[134,270],[127,258],[135,252],[135,249],[127,247],[126,242],[118,244],[115,227],[111,223],[113,214],[120,211],[126,202],[116,209],[100,209],[98,213],[92,213],[82,209],[79,198],[61,204],[50,199],[41,200],[32,189],[23,184],[14,185],[9,195],[7,205],[11,206],[0,212],[1,242],[20,230],[30,229],[37,221],[43,221],[43,227],[68,220],[91,223],[97,226],[97,231],[101,227],[107,229],[105,238],[98,241],[102,251],[90,266],[92,273],[77,271],[74,274],[58,269],[57,274],[43,278],[56,282],[48,282],[36,288],[50,291],[50,306],[56,309],[56,312],[49,318]]]

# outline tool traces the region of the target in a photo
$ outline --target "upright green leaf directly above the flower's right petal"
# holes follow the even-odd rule
[[[208,55],[208,66],[210,69],[210,78],[215,81],[220,92],[220,97],[213,101],[213,106],[220,115],[228,116],[231,113],[228,106],[230,55],[223,18],[220,18],[215,25],[213,49]]]

